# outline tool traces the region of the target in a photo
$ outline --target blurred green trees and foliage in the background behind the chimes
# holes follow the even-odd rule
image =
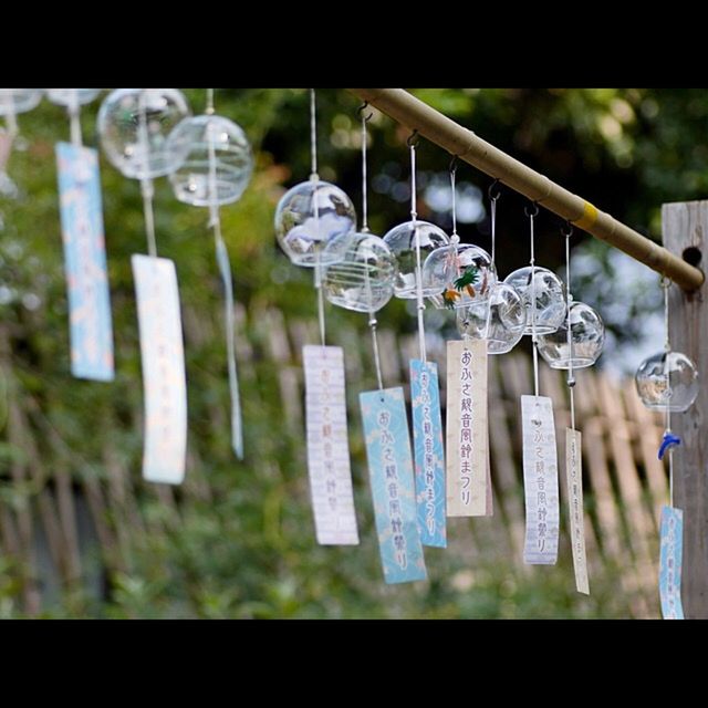
[[[205,91],[185,93],[192,112],[201,112]],[[704,137],[708,96],[702,90],[414,93],[652,238],[658,239],[662,202],[700,198],[708,190]],[[257,157],[243,198],[222,210],[236,296],[242,305],[241,354],[250,347],[250,366],[241,375],[247,459],[237,462],[229,445],[221,287],[207,214],[178,204],[160,179],[155,199],[158,250],[177,264],[185,317],[189,493],[156,491],[139,482],[142,386],[129,270],[129,256],[146,250],[137,183],[123,178],[102,158],[116,381],[103,385],[73,379],[53,154],[54,143],[67,139],[69,124],[63,111],[46,101],[20,116],[28,146],[15,150],[8,165],[20,194],[17,199],[0,199],[0,613],[111,617],[626,613],[611,586],[594,587],[590,598],[575,595],[568,564],[530,579],[518,573],[518,559],[477,564],[470,575],[468,560],[459,554],[429,553],[428,583],[384,586],[355,405],[356,392],[374,383],[371,369],[348,381],[362,546],[315,545],[304,435],[301,421],[281,405],[282,382],[272,361],[273,337],[283,323],[260,317],[266,311],[280,312],[285,321],[314,316],[312,273],[290,264],[272,228],[278,199],[310,171],[309,96],[305,90],[217,90],[216,106],[246,129]],[[339,184],[360,208],[357,106],[357,100],[343,90],[317,91],[320,175]],[[96,108],[94,103],[83,111],[85,142],[94,146]],[[369,222],[378,235],[408,218],[407,137],[404,128],[374,111]],[[449,229],[450,156],[424,140],[418,160],[419,215]],[[467,165],[459,166],[457,177],[461,239],[489,248],[486,190],[491,180]],[[529,259],[523,206],[522,197],[502,190],[498,212],[502,277]],[[541,211],[537,263],[561,267],[559,227],[556,217]],[[597,306],[608,326],[601,364],[617,374],[634,371],[645,350],[660,342],[660,317],[654,315],[660,300],[657,277],[581,231],[575,232],[573,246],[573,293]],[[382,326],[413,332],[410,312],[406,303],[394,300],[381,315]],[[433,311],[426,316],[430,331],[455,336],[449,317]],[[354,346],[368,346],[365,317],[330,308],[327,320],[333,343],[342,343],[344,325],[354,325],[362,335]],[[293,400],[292,409],[300,405]],[[42,506],[42,494],[62,503],[61,483],[54,479],[58,470],[74,494],[81,577],[75,568],[56,568],[52,560],[46,531],[52,528],[51,514]],[[96,480],[110,490],[106,508],[98,512],[105,517],[103,530],[87,511],[91,508],[95,516],[101,509],[98,492],[92,497],[86,491],[98,489]],[[46,518],[40,524],[35,517],[42,513]],[[71,535],[71,529],[63,531]],[[102,533],[106,538],[101,539]],[[12,553],[15,538],[19,546]],[[28,559],[29,548],[35,549],[37,558]]]

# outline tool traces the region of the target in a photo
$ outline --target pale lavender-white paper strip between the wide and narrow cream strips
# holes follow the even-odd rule
[[[560,510],[553,403],[548,396],[521,396],[523,493],[527,535],[523,562],[554,565]]]

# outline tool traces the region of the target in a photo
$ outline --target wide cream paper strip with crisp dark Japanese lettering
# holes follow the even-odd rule
[[[488,514],[487,342],[447,343],[448,517]]]

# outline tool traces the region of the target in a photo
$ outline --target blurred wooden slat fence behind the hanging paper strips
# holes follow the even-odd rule
[[[259,372],[263,360],[270,376],[277,376],[282,408],[283,429],[300,441],[295,462],[304,467],[303,376],[301,346],[316,342],[313,322],[285,322],[277,310],[249,314],[237,310],[238,358],[243,389],[258,397]],[[184,309],[185,336],[188,344],[199,344],[219,336],[220,322]],[[248,333],[248,336],[246,335]],[[350,397],[350,425],[360,426],[356,393],[373,385],[368,339],[362,327],[340,326],[336,342],[344,346]],[[334,337],[333,337],[334,339]],[[165,533],[179,523],[180,512],[191,500],[209,502],[215,491],[204,472],[202,448],[190,445],[188,471],[179,490],[168,486],[147,485],[135,465],[107,436],[103,470],[97,475],[77,475],[75,459],[81,451],[67,449],[54,427],[41,415],[39,404],[23,396],[12,376],[11,358],[4,337],[0,336],[0,366],[8,382],[7,435],[10,446],[24,451],[11,456],[10,477],[6,480],[18,496],[9,501],[0,498],[0,546],[3,559],[21,568],[22,611],[41,612],[43,595],[51,594],[70,602],[72,589],[91,586],[100,595],[105,592],[107,572],[131,566],[132,544],[136,534]],[[400,335],[382,329],[379,344],[385,385],[404,384],[407,388],[408,360],[417,355],[414,335]],[[445,343],[430,337],[428,355],[440,365],[445,381]],[[275,366],[277,365],[277,366]],[[277,372],[277,374],[273,374]],[[554,400],[558,427],[559,460],[564,460],[563,428],[569,425],[566,389],[563,372],[541,364],[541,389]],[[356,386],[352,382],[366,382]],[[632,381],[623,384],[594,371],[577,372],[576,417],[583,433],[583,471],[585,486],[585,529],[591,591],[593,577],[613,574],[617,592],[631,602],[636,617],[658,616],[657,564],[659,507],[668,496],[667,477],[656,458],[662,425],[659,417],[639,403]],[[521,565],[523,545],[523,492],[521,473],[521,435],[519,397],[532,387],[530,361],[524,354],[511,353],[490,357],[490,430],[494,517],[472,523],[471,541],[451,543],[450,552],[468,554],[470,563],[480,555],[513,554]],[[441,391],[445,405],[445,386]],[[251,400],[258,405],[258,399]],[[212,425],[228,427],[223,402],[214,404]],[[140,429],[142,414],[134,412],[132,424]],[[249,420],[246,420],[249,425]],[[278,435],[281,435],[279,428]],[[40,444],[41,442],[41,444]],[[272,442],[272,441],[271,441]],[[278,462],[269,454],[268,440],[259,450],[258,464],[264,473]],[[51,450],[51,466],[46,450]],[[247,451],[248,452],[248,451]],[[269,456],[270,455],[270,456]],[[140,500],[159,499],[164,513],[146,516]],[[17,499],[20,499],[20,502]],[[561,464],[561,504],[565,523],[566,490]],[[94,535],[101,546],[98,560],[86,556],[87,538]],[[314,534],[313,534],[314,535]],[[568,534],[562,533],[560,552],[570,555]],[[314,538],[313,538],[314,543]],[[527,572],[533,572],[525,569]],[[523,572],[523,571],[522,571]],[[235,569],[238,573],[238,569]],[[569,581],[572,582],[572,579]]]

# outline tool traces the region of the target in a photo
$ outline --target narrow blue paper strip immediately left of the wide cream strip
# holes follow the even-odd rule
[[[437,364],[410,360],[410,398],[420,541],[444,549],[447,548],[445,455]]]

